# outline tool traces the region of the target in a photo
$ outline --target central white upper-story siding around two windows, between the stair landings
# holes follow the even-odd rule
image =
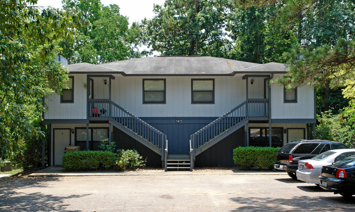
[[[143,79],[166,80],[166,104],[143,104]],[[191,79],[214,79],[214,104],[191,104]],[[115,75],[112,99],[138,117],[216,117],[245,101],[245,80],[233,77]]]

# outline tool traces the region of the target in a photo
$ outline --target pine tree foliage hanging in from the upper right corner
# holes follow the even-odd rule
[[[298,44],[284,57],[289,72],[276,81],[288,88],[305,83],[324,89],[344,87],[345,98],[355,98],[354,1],[345,0],[233,0],[250,8],[274,5],[278,23],[293,31]],[[300,46],[302,45],[302,46]]]

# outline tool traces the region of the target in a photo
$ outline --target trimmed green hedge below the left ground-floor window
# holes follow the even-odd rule
[[[110,151],[69,151],[62,157],[62,166],[67,171],[88,170],[99,166],[108,170],[115,164],[116,154]]]

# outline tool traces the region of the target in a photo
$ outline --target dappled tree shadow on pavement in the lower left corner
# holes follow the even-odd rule
[[[55,196],[40,192],[22,193],[18,189],[48,188],[56,177],[6,178],[0,181],[0,211],[67,211],[66,202],[86,195]],[[71,210],[72,211],[72,210]]]

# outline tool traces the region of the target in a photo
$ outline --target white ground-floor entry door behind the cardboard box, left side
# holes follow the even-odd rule
[[[62,165],[66,146],[70,145],[70,129],[54,130],[54,165]]]

